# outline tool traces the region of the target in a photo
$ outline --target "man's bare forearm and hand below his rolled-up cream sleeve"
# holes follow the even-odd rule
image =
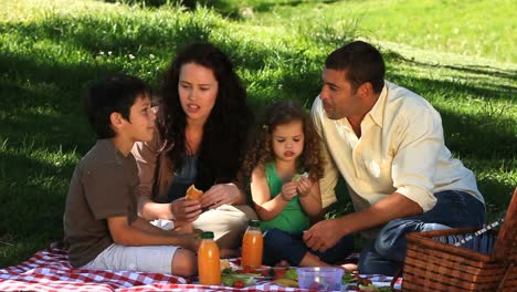
[[[325,251],[347,234],[422,212],[419,204],[403,195],[393,192],[362,211],[317,222],[304,233],[304,240],[310,249]]]

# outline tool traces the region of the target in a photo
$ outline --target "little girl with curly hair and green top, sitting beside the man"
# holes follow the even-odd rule
[[[317,252],[302,239],[321,212],[319,137],[304,108],[292,101],[267,107],[244,161],[253,205],[264,232],[263,263],[329,265],[352,250],[351,237]]]

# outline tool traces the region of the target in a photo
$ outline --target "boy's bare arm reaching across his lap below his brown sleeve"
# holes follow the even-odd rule
[[[197,251],[199,247],[199,239],[196,234],[178,236],[173,231],[157,230],[159,229],[157,227],[144,227],[145,225],[138,219],[133,226],[129,225],[127,216],[109,217],[107,223],[113,241],[117,244],[127,247],[179,246],[192,251]]]

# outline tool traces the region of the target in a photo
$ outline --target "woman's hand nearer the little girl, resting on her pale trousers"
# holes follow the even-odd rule
[[[222,205],[232,205],[240,200],[241,190],[234,184],[218,184],[207,190],[199,202],[202,208],[215,209]]]

